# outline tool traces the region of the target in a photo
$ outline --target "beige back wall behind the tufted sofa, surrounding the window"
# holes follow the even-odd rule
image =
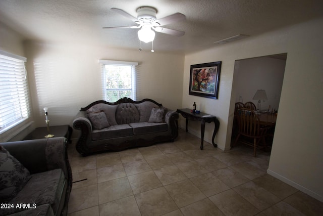
[[[44,107],[51,125],[71,125],[81,107],[102,100],[99,59],[138,62],[137,100],[150,98],[175,110],[181,106],[183,55],[33,41],[25,42],[25,50],[37,126],[44,125]]]

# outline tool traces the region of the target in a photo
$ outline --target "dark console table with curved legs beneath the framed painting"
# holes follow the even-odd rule
[[[200,112],[197,113],[191,113],[190,109],[177,109],[178,113],[180,113],[184,118],[186,118],[186,125],[185,125],[185,131],[187,132],[187,125],[188,120],[198,120],[201,122],[201,146],[200,149],[203,149],[203,141],[204,141],[204,131],[205,131],[205,122],[211,123],[214,122],[214,131],[212,136],[212,144],[214,147],[217,147],[218,145],[214,143],[214,138],[216,137],[219,127],[220,127],[220,121],[216,116],[209,115],[207,113]]]

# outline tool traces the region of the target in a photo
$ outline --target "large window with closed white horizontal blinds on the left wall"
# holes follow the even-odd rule
[[[0,134],[30,117],[26,60],[0,52]]]

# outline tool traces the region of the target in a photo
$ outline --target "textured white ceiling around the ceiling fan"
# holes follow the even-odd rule
[[[180,12],[185,21],[165,27],[185,31],[181,37],[156,33],[155,52],[191,53],[237,34],[266,31],[323,16],[322,0],[0,0],[0,22],[26,39],[76,42],[112,48],[139,49],[138,29],[102,29],[134,25],[110,10],[137,17],[136,9],[151,6],[157,19]],[[142,43],[150,50],[151,43]]]

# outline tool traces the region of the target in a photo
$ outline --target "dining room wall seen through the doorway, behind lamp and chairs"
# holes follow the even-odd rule
[[[241,59],[235,61],[231,105],[232,115],[232,131],[231,146],[238,135],[238,126],[234,118],[234,107],[237,102],[243,104],[252,102],[255,104],[258,114],[266,112],[279,112],[279,102],[283,86],[287,53],[255,57],[249,59]],[[267,99],[253,99],[257,90],[264,90]],[[260,110],[259,110],[260,109]],[[259,110],[259,111],[258,111]],[[274,111],[275,110],[275,111]],[[275,125],[268,130],[266,136],[266,144],[271,149],[275,135]],[[240,139],[240,138],[239,138]]]

